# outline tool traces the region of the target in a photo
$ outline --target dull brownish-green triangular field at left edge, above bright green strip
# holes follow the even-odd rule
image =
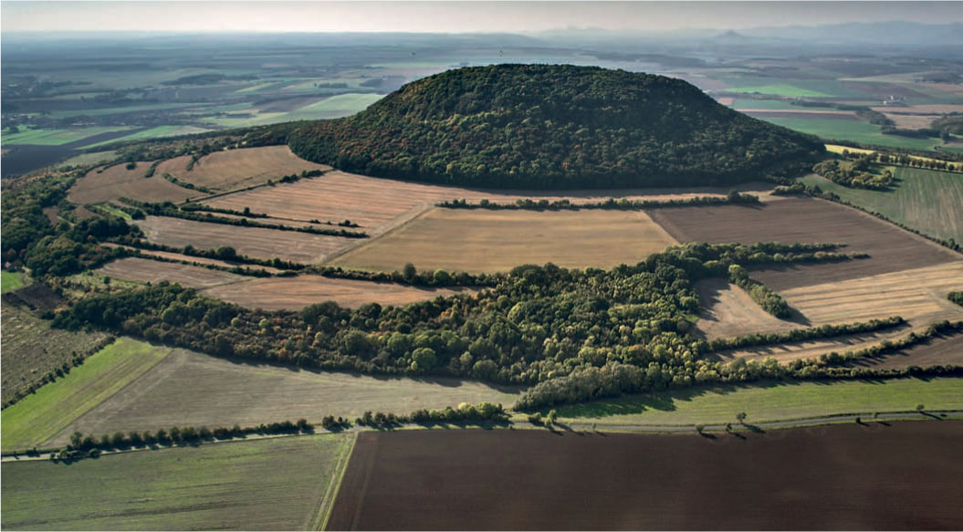
[[[0,366],[4,402],[38,383],[49,371],[68,362],[74,353],[87,354],[107,338],[101,332],[70,332],[50,328],[50,322],[4,302],[0,305]]]

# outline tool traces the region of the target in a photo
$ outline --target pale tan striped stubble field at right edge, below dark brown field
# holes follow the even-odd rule
[[[782,291],[813,325],[901,316],[914,326],[963,319],[947,294],[963,280],[963,261]]]

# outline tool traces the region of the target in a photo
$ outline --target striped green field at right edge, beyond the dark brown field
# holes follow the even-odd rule
[[[802,179],[931,237],[963,241],[963,175],[898,166],[892,191],[849,189],[818,175]]]

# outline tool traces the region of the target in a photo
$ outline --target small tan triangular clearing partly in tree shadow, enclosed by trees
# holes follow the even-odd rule
[[[695,327],[704,338],[774,333],[799,328],[798,323],[768,314],[746,291],[724,279],[704,279],[695,283],[699,293],[699,320]]]

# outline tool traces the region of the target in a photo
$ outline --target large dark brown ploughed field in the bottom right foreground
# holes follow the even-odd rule
[[[715,439],[364,433],[327,529],[954,529],[960,438],[957,421]]]

